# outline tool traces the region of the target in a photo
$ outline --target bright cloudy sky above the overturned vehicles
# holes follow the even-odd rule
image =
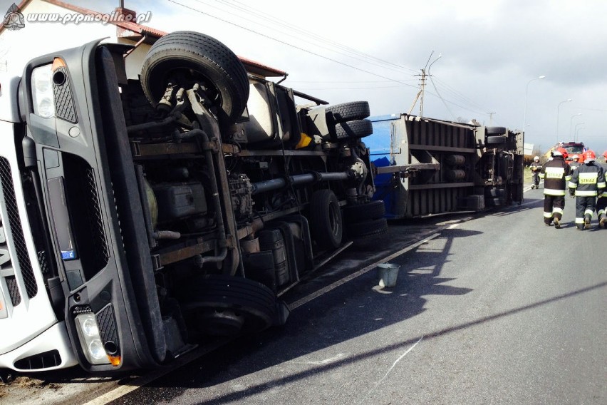
[[[102,12],[120,4],[64,1]],[[331,104],[524,126],[525,142],[542,152],[576,139],[607,150],[604,0],[123,1],[150,11],[147,26],[213,36]]]

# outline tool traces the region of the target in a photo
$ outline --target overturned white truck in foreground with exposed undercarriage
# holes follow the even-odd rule
[[[128,51],[2,83],[0,368],[150,368],[283,324],[281,294],[387,229],[368,103],[247,74],[195,32],[159,39],[140,80]]]

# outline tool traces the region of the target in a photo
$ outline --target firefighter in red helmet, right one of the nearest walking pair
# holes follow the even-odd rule
[[[576,197],[576,227],[578,230],[590,229],[592,215],[596,209],[596,198],[605,190],[605,173],[603,168],[595,163],[596,155],[592,150],[586,150],[583,165],[574,171],[569,181],[569,194]],[[603,226],[604,226],[603,221]],[[600,225],[600,219],[599,219]]]

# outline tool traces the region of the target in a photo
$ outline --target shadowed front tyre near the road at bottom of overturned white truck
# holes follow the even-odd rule
[[[209,275],[189,280],[180,303],[194,335],[261,332],[276,319],[274,292],[242,277]]]

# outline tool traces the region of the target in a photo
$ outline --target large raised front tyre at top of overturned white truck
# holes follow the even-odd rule
[[[186,90],[200,83],[220,118],[233,122],[247,106],[247,71],[238,56],[210,36],[176,31],[152,45],[141,68],[141,86],[152,106],[160,101],[170,80]]]

